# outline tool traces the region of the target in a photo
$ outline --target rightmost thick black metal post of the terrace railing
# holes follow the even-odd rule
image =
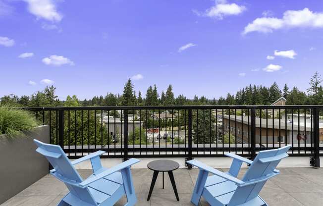
[[[310,165],[320,167],[320,108],[313,108],[313,156]]]

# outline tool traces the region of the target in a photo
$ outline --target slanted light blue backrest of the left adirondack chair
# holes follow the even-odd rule
[[[89,203],[90,205],[97,206],[96,201],[87,187],[80,188],[75,186],[75,184],[79,184],[83,180],[74,166],[71,164],[70,160],[67,158],[64,151],[58,145],[45,144],[38,140],[34,140],[34,142],[38,146],[36,152],[43,154],[54,167],[55,171],[53,175],[59,180],[67,180],[63,182],[70,193],[80,200]],[[58,176],[60,178],[58,178]],[[73,185],[68,182],[74,182],[75,184]]]

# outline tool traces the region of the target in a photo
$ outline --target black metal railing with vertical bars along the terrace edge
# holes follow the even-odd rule
[[[50,125],[69,158],[215,157],[292,145],[320,166],[323,105],[25,107]],[[320,115],[322,114],[322,116]],[[321,144],[321,147],[320,147]]]

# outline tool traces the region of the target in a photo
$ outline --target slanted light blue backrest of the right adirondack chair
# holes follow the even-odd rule
[[[266,176],[274,176],[275,168],[282,158],[287,157],[287,151],[290,149],[290,145],[274,149],[261,151],[250,165],[249,169],[242,178],[244,182],[252,182],[255,179],[259,179]],[[264,178],[265,179],[265,178]],[[228,206],[242,205],[259,195],[259,192],[264,187],[267,180],[255,181],[254,184],[238,187],[232,196]]]

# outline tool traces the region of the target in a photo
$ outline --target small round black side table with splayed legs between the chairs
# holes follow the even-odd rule
[[[164,172],[168,172],[168,176],[169,176],[171,185],[173,186],[176,200],[179,201],[175,179],[173,175],[173,170],[178,169],[179,164],[173,160],[159,159],[159,160],[154,160],[149,162],[147,167],[154,171],[153,180],[152,180],[152,184],[150,185],[147,201],[149,201],[150,197],[152,196],[153,189],[159,172],[162,172],[162,189],[164,189]]]

